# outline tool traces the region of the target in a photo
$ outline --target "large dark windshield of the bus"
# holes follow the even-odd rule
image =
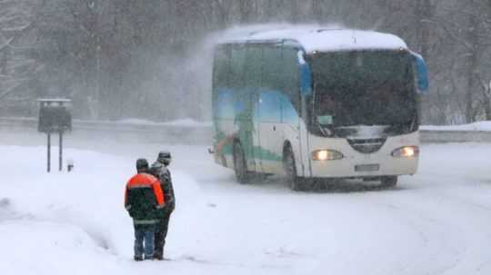
[[[332,128],[411,124],[414,74],[406,51],[351,51],[311,56],[314,119]]]

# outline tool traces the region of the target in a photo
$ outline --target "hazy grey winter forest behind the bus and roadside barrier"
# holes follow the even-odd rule
[[[399,35],[430,67],[424,123],[491,120],[491,0],[0,0],[0,115],[63,96],[80,119],[207,120],[205,37],[265,23]]]

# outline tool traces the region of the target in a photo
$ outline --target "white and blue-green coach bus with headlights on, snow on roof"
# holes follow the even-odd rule
[[[416,173],[426,64],[393,34],[255,32],[215,46],[215,162],[238,182],[284,174],[395,186]]]

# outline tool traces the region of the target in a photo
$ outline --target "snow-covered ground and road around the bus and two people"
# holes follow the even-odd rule
[[[491,274],[488,144],[424,145],[394,190],[298,193],[239,185],[191,145],[72,139],[75,171],[47,174],[43,142],[0,136],[0,274]],[[134,262],[124,185],[160,149],[175,157],[172,260]]]

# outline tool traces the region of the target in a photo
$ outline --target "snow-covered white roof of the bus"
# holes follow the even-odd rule
[[[353,50],[407,49],[406,43],[394,34],[340,28],[289,27],[229,35],[223,44],[295,41],[307,54]]]

